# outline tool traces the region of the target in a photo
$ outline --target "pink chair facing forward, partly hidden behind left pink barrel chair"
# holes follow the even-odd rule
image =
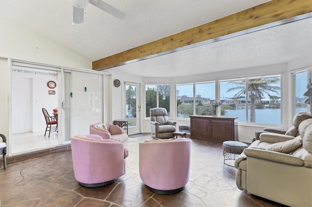
[[[106,123],[95,123],[90,125],[90,135],[99,135],[103,139],[114,139],[127,147],[128,135],[117,125]]]

